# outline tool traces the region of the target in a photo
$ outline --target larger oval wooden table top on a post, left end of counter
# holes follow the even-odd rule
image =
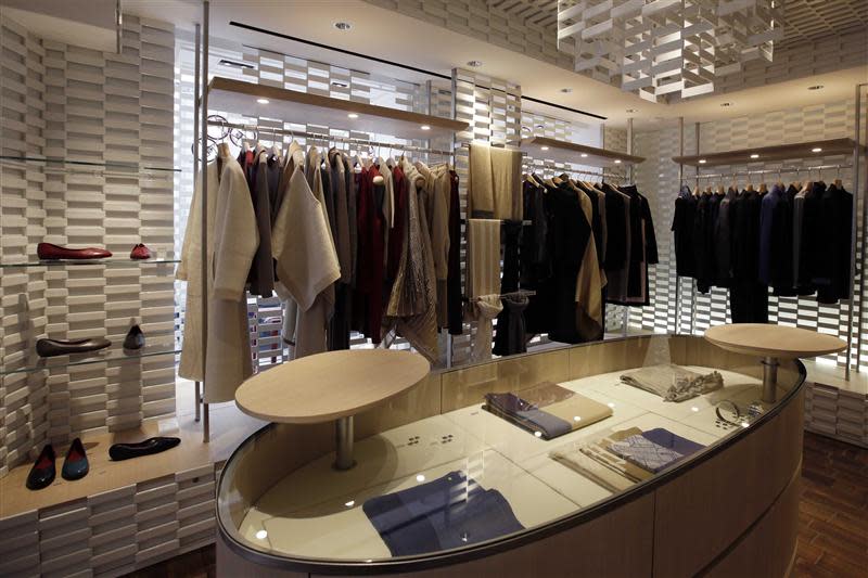
[[[397,396],[429,371],[427,360],[409,351],[328,351],[251,377],[235,390],[235,403],[244,413],[269,422],[328,422]]]

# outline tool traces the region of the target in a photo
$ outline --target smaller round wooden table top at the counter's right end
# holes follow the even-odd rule
[[[767,323],[732,323],[705,331],[705,339],[728,351],[784,359],[834,354],[847,344],[833,335]]]

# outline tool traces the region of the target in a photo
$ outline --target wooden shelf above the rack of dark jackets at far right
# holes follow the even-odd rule
[[[853,139],[829,139],[824,141],[799,142],[793,144],[778,144],[775,146],[757,146],[738,151],[724,151],[722,153],[706,153],[701,155],[674,156],[673,160],[679,165],[693,167],[719,167],[722,165],[746,165],[749,163],[767,163],[770,160],[789,160],[803,158],[822,158],[834,155],[853,154],[856,142]],[[815,152],[815,149],[819,151]],[[865,151],[865,146],[859,146]],[[751,155],[757,155],[752,157]],[[701,163],[704,160],[704,163]]]

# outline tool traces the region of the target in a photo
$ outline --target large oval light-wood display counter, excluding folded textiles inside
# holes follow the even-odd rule
[[[660,363],[714,368],[726,385],[676,404],[617,384],[624,370]],[[272,424],[227,462],[218,487],[217,571],[286,577],[786,576],[796,543],[804,380],[801,362],[781,360],[778,401],[763,403],[762,415],[743,427],[717,432],[718,402],[761,397],[763,369],[756,359],[701,337],[629,337],[433,373],[384,407],[359,415],[356,448],[366,467],[330,468],[335,440],[328,424]],[[595,487],[548,458],[550,449],[585,429],[545,441],[478,409],[486,393],[521,393],[542,381],[608,402],[613,408],[609,427],[664,426],[706,449],[624,491]],[[441,434],[454,446],[420,453],[412,445],[421,437],[423,449],[434,446]],[[481,486],[499,489],[526,529],[410,557],[352,553],[369,540],[361,525],[352,524],[365,521],[360,505],[371,488],[385,484],[384,491],[394,491],[411,485],[413,477],[433,479],[456,463],[474,471]],[[346,500],[354,496],[347,492],[358,499]],[[316,508],[298,505],[320,494],[333,497]],[[330,529],[334,521],[346,524]]]

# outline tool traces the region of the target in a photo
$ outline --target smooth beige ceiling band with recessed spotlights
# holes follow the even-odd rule
[[[509,2],[509,0],[502,1]],[[531,3],[527,0],[523,2]],[[812,4],[817,9],[824,3],[868,4],[868,0],[859,2],[803,0],[799,3]],[[634,117],[637,128],[642,128],[678,116],[685,116],[687,121],[703,121],[840,101],[853,97],[855,84],[868,81],[868,63],[866,63],[863,67],[789,80],[761,89],[729,92],[725,95],[694,99],[677,104],[655,104],[553,64],[490,44],[478,38],[425,24],[408,15],[376,8],[361,0],[213,0],[210,4],[213,37],[410,81],[422,80],[424,76],[366,59],[342,55],[273,36],[242,30],[230,26],[229,23],[238,21],[438,74],[448,75],[454,67],[464,66],[470,60],[480,60],[484,63],[481,68],[484,74],[518,82],[525,95],[609,117],[608,126],[624,126],[628,117]],[[125,0],[124,5],[128,13],[168,18],[186,29],[191,28],[201,17],[199,0]],[[865,13],[864,7],[860,13]],[[339,20],[352,22],[353,29],[346,33],[337,31],[333,23]],[[825,89],[807,90],[808,86],[817,84],[824,85]],[[562,88],[573,90],[563,93]],[[724,101],[731,102],[732,106],[722,107],[720,103]],[[627,110],[636,112],[627,113]],[[571,115],[563,111],[547,112],[560,118],[590,120],[587,116]]]

